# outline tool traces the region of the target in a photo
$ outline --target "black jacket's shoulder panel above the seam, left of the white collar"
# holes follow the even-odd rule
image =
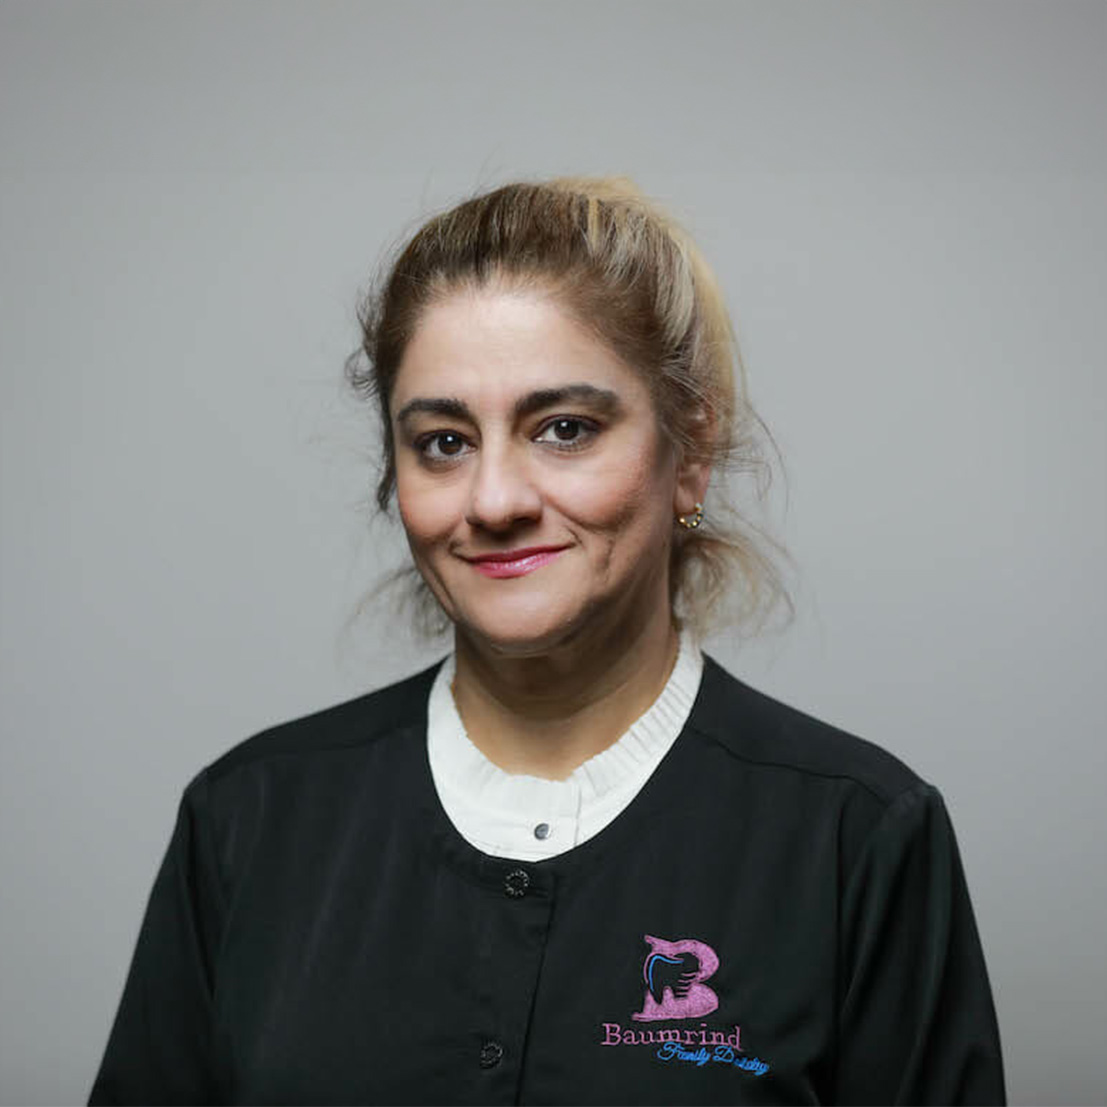
[[[232,746],[200,774],[215,783],[247,765],[277,757],[364,747],[422,725],[426,701],[442,662],[386,687],[278,723]]]

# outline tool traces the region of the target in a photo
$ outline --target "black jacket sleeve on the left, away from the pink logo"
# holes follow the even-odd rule
[[[154,881],[90,1104],[207,1104],[224,1098],[213,1065],[214,963],[221,889],[205,778],[185,789]]]

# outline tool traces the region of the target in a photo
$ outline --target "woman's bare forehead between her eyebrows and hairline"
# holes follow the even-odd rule
[[[509,407],[520,395],[570,383],[649,403],[645,383],[607,343],[549,296],[530,290],[466,290],[423,313],[392,391],[410,400],[449,396],[470,406]]]

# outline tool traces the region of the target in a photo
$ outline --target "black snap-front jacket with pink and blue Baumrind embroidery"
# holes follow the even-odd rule
[[[91,1103],[997,1104],[941,797],[706,660],[630,807],[487,857],[427,670],[185,790]]]

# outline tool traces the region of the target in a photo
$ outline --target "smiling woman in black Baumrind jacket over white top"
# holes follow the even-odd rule
[[[1001,1103],[939,794],[696,645],[782,590],[703,507],[758,424],[687,237],[510,185],[363,328],[454,652],[192,782],[92,1101]]]

